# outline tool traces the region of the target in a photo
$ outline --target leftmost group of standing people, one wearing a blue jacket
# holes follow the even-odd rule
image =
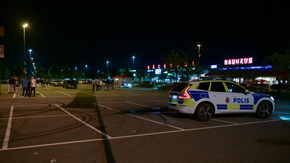
[[[36,80],[32,77],[32,80],[28,80],[27,77],[22,78],[22,81],[19,80],[18,77],[11,77],[8,80],[8,93],[15,93],[15,97],[20,97],[20,85],[23,89],[22,98],[23,97],[31,97],[33,91],[33,97],[35,97],[35,87]],[[25,92],[25,95],[24,95]]]

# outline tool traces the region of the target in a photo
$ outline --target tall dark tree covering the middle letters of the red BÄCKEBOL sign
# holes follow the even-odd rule
[[[184,68],[184,59],[181,58],[180,51],[175,52],[175,50],[170,50],[170,54],[167,54],[166,58],[162,58],[168,68],[166,68],[169,72],[175,73],[175,82],[177,82],[177,75],[179,72],[182,72]]]

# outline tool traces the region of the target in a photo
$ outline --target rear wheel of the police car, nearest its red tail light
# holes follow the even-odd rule
[[[200,121],[209,121],[213,114],[213,106],[207,103],[200,103],[195,110],[195,117]]]

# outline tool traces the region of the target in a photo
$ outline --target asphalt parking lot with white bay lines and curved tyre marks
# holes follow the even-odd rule
[[[93,92],[89,84],[79,84],[77,89],[36,88],[36,97],[20,98],[1,86],[0,162],[290,159],[290,102],[276,102],[268,119],[227,114],[200,122],[168,111],[168,91]]]

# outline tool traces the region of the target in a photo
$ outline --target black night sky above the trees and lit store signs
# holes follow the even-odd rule
[[[146,69],[163,64],[170,49],[184,50],[201,65],[267,55],[290,46],[289,3],[278,1],[1,1],[0,26],[8,68],[26,61],[85,72]]]

